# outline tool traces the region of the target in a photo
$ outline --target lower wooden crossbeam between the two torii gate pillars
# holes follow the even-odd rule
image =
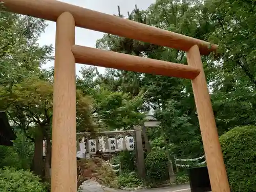
[[[72,52],[76,63],[87,65],[186,79],[194,79],[200,73],[199,69],[182,64],[77,45],[72,46]]]

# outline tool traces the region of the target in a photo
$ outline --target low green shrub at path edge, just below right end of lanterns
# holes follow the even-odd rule
[[[135,172],[124,173],[118,177],[118,187],[134,188],[139,185],[143,185],[142,180],[138,179]]]

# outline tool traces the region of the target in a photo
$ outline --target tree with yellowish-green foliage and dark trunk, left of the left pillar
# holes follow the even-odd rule
[[[31,130],[35,143],[33,170],[35,174],[42,176],[42,141],[46,138],[50,142],[53,96],[51,83],[33,76],[25,82],[13,84],[11,94],[2,90],[1,95],[0,102],[5,101],[5,109],[10,112],[14,123],[22,127],[19,120],[27,120],[27,126],[22,127],[25,133],[31,126],[35,128]],[[17,114],[19,116],[16,116]]]

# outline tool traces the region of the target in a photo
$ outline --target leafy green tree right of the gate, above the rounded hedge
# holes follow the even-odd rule
[[[206,1],[215,30],[209,38],[220,46],[212,73],[212,100],[220,134],[255,124],[255,2]]]

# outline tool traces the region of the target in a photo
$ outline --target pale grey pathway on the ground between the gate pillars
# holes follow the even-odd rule
[[[128,192],[126,190],[105,187],[93,180],[87,180],[83,182],[83,184],[80,187],[81,187],[81,192]],[[190,186],[179,185],[179,186],[172,186],[172,187],[139,189],[139,190],[136,190],[136,192],[190,192]]]

